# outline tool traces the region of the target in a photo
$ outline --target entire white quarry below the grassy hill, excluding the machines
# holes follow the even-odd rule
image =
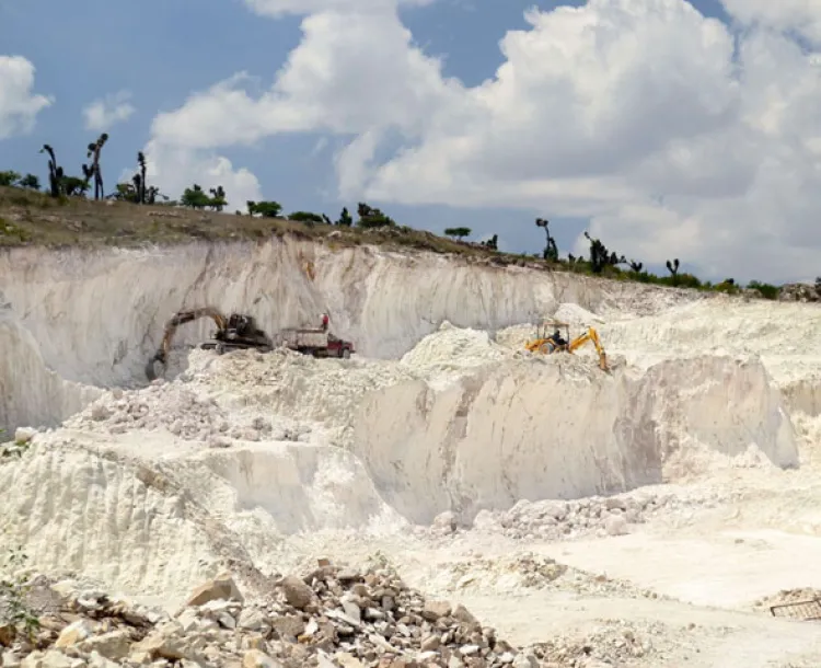
[[[205,306],[355,353],[200,319],[149,380]],[[289,235],[7,250],[0,556],[41,622],[0,665],[821,665],[820,315]],[[525,350],[545,319],[609,371]]]

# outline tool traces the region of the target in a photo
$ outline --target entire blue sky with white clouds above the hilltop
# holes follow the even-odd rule
[[[821,275],[821,0],[0,0],[0,170]]]

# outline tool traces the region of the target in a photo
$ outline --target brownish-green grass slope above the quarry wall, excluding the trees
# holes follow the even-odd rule
[[[537,256],[502,253],[476,243],[455,241],[404,226],[377,229],[305,223],[281,218],[194,210],[166,205],[137,205],[113,199],[94,201],[83,197],[54,198],[46,193],[0,186],[0,247],[135,247],[146,244],[177,244],[193,240],[262,241],[276,237],[324,241],[336,247],[374,244],[386,249],[415,249],[455,254],[497,264],[532,266],[592,276],[589,262],[550,262]],[[605,266],[603,278],[631,280],[667,287],[736,293],[732,281],[702,283],[695,276],[656,276]],[[751,285],[762,297],[775,299],[778,288]]]

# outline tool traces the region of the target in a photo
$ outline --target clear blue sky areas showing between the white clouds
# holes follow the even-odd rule
[[[557,4],[437,0],[426,7],[402,8],[400,16],[413,33],[416,46],[428,56],[443,58],[444,77],[455,77],[465,88],[473,88],[493,78],[506,60],[499,41],[507,31],[531,27],[524,19],[528,9],[550,11]],[[715,0],[697,0],[693,4],[705,16],[729,21]],[[82,110],[96,99],[127,90],[136,111],[111,128],[103,159],[106,189],[111,191],[150,139],[151,124],[158,113],[178,110],[192,93],[239,71],[257,77],[255,85],[259,91],[269,89],[277,70],[302,41],[302,19],[261,16],[248,11],[242,0],[144,0],[128,9],[109,0],[81,3],[0,0],[0,55],[28,59],[36,68],[34,92],[55,99],[51,106],[38,114],[31,134],[0,141],[0,169],[13,168],[45,176],[46,160],[37,151],[48,142],[55,147],[60,162],[79,173],[85,158],[84,147],[99,134],[84,129]],[[323,137],[327,142],[317,145]],[[333,163],[334,150],[349,140],[350,135],[342,133],[268,134],[252,147],[226,146],[219,148],[219,153],[231,160],[234,168],[253,172],[262,195],[281,201],[286,211],[315,210],[336,217],[342,206],[356,207],[357,198],[338,198]],[[534,138],[534,142],[539,140]],[[390,152],[391,148],[385,150]],[[550,142],[544,151],[551,151]],[[167,194],[178,196],[178,193]],[[663,191],[654,194],[666,195]],[[402,223],[418,228],[441,231],[466,224],[473,228],[476,238],[499,233],[504,245],[513,251],[541,250],[542,230],[533,226],[536,216],[553,221],[554,234],[565,252],[573,250],[589,219],[583,211],[578,217],[568,215],[571,207],[559,210],[551,210],[550,204],[513,207],[505,197],[475,206],[470,197],[456,203],[459,206],[367,200]],[[550,203],[550,198],[544,201]],[[681,216],[690,208],[690,204],[682,205]],[[629,249],[621,250],[634,255]],[[693,263],[683,260],[685,266],[710,274],[707,258],[701,263],[697,258]],[[712,266],[715,274],[715,262]]]

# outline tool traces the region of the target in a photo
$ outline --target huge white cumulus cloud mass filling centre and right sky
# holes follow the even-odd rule
[[[270,90],[220,82],[160,115],[155,140],[203,151],[324,130],[349,138],[336,156],[348,198],[585,217],[620,253],[717,278],[814,270],[821,68],[785,32],[810,30],[809,0],[725,0],[749,24],[740,35],[684,0],[531,10],[474,88],[414,45],[395,2],[368,2],[299,3],[315,13]]]

